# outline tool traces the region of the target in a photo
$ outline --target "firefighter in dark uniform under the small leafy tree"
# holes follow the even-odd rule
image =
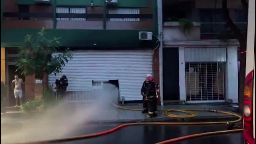
[[[63,99],[66,97],[67,93],[67,86],[68,86],[68,79],[67,76],[61,76],[59,81],[55,81],[57,87],[57,97]]]

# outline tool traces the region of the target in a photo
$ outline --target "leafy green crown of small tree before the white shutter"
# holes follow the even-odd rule
[[[16,64],[24,75],[35,74],[36,79],[41,80],[44,74],[60,73],[65,63],[72,59],[72,52],[68,48],[60,49],[60,38],[53,37],[49,40],[45,34],[45,30],[42,28],[36,38],[31,35],[25,37]],[[57,54],[60,51],[62,52]]]

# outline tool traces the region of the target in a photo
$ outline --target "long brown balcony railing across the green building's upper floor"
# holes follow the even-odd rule
[[[2,28],[57,28],[57,29],[153,29],[153,14],[102,13],[20,13],[4,12]],[[69,18],[70,20],[60,20]],[[83,18],[85,20],[76,20]],[[109,19],[119,21],[109,21]],[[97,21],[93,21],[97,19]],[[120,21],[120,19],[141,19]],[[101,20],[101,21],[100,21]]]

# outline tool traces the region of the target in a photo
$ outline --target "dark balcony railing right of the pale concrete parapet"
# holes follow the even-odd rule
[[[247,22],[235,22],[240,30],[245,30]],[[216,39],[218,35],[229,30],[226,22],[201,22],[201,39]]]

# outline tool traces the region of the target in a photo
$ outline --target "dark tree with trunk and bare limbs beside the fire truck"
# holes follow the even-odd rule
[[[240,0],[244,9],[244,15],[248,17],[248,2],[247,0]],[[240,44],[240,50],[242,52],[246,51],[246,43],[247,43],[247,29],[244,31],[239,30],[235,23],[232,21],[229,15],[229,10],[227,6],[227,0],[222,0],[222,12],[224,20],[226,21],[228,27],[234,34],[235,38],[238,40]],[[244,80],[245,80],[245,64],[246,64],[246,54],[241,54],[240,57],[240,75],[239,75],[239,110],[243,111],[243,100],[244,100]]]

